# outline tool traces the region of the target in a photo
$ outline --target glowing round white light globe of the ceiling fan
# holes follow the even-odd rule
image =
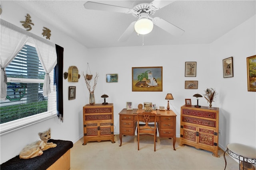
[[[154,24],[151,20],[147,18],[141,18],[135,23],[134,29],[138,34],[145,35],[152,31],[153,25]]]

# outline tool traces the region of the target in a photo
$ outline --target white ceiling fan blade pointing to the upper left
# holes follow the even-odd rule
[[[111,11],[111,12],[121,12],[121,13],[132,13],[132,9],[125,8],[121,6],[114,6],[108,4],[101,4],[98,2],[88,1],[84,4],[84,8],[88,10],[101,10],[101,11]]]

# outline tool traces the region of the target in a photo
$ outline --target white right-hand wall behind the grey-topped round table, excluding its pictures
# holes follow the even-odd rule
[[[256,147],[256,93],[247,91],[246,57],[256,55],[255,16],[210,45],[211,84],[218,89],[220,145],[243,143]],[[223,78],[222,60],[233,57],[234,77]]]

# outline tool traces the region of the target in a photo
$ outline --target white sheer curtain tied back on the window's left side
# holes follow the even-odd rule
[[[5,100],[7,94],[7,77],[5,68],[20,52],[29,37],[4,25],[1,25],[0,29],[0,100]]]

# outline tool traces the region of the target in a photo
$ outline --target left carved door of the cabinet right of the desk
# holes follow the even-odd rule
[[[181,130],[181,134],[183,135],[182,140],[189,141],[192,143],[197,143],[197,127],[194,125],[183,125],[183,128]]]

